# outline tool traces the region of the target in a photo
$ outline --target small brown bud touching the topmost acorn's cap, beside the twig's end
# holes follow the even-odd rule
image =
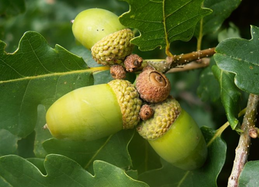
[[[140,56],[136,54],[129,55],[124,61],[126,71],[136,71],[141,66],[142,62],[143,59]]]

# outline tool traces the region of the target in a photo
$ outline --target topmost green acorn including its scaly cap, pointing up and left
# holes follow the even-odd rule
[[[91,49],[92,57],[104,65],[123,64],[132,53],[133,32],[125,28],[112,12],[91,8],[80,12],[73,21],[75,38]]]

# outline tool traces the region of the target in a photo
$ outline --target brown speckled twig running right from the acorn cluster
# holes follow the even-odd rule
[[[172,68],[179,67],[181,65],[185,65],[187,63],[197,61],[205,57],[212,56],[215,53],[216,52],[214,47],[214,48],[204,49],[201,51],[194,51],[192,53],[174,55],[172,57],[167,57],[166,60],[160,60],[159,62],[157,61],[154,62],[152,60],[146,61],[146,63],[143,63],[142,68],[144,68],[147,65],[151,65],[156,70],[162,73],[166,73]]]

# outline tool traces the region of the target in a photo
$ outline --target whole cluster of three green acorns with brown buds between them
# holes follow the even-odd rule
[[[92,21],[96,17],[111,23],[100,26]],[[133,32],[103,9],[81,12],[72,30],[97,63],[110,66],[114,80],[73,90],[52,104],[45,127],[53,137],[89,141],[136,127],[169,163],[187,170],[201,167],[207,157],[204,137],[192,117],[170,96],[168,78],[148,66],[137,76],[135,85],[123,80],[127,72],[139,71],[143,62],[132,54]]]

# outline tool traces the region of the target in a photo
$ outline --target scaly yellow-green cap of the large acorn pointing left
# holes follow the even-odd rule
[[[126,80],[116,79],[110,81],[108,84],[115,92],[121,107],[123,128],[133,128],[140,120],[138,114],[142,105],[136,88]]]

